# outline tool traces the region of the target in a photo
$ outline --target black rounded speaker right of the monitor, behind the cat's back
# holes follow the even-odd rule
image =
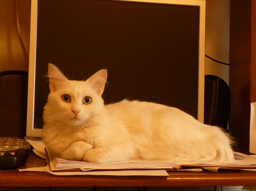
[[[228,128],[231,93],[228,84],[221,78],[205,75],[204,123]]]

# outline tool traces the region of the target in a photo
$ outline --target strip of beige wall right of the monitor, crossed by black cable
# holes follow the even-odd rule
[[[205,54],[229,63],[230,0],[206,0]],[[205,74],[213,74],[229,83],[229,66],[205,58]]]

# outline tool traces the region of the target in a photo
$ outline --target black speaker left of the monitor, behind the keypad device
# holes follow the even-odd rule
[[[28,72],[0,72],[0,137],[25,137]]]

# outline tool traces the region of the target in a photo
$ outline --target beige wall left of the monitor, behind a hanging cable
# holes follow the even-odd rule
[[[29,50],[30,0],[19,0],[20,30],[27,53]],[[0,0],[0,71],[28,71],[19,43],[15,0]]]

